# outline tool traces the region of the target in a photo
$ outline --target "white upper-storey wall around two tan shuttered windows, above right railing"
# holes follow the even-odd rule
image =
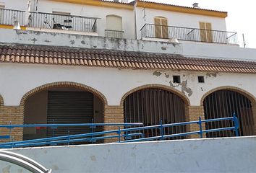
[[[146,20],[144,11],[141,7],[136,7],[136,20],[137,20],[137,39],[141,38],[140,29],[146,24],[154,24],[154,17],[166,17],[168,25],[174,27],[192,27],[200,28],[199,22],[210,22],[212,30],[226,31],[226,21],[221,17],[210,17],[197,14],[187,14],[181,12],[168,12],[159,9],[145,9]]]

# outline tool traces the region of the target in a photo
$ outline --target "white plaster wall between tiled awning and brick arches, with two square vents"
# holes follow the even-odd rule
[[[97,89],[108,99],[108,105],[120,105],[121,97],[129,90],[147,84],[170,86],[183,92],[193,106],[200,105],[202,96],[220,86],[235,86],[256,97],[255,74],[209,74],[184,71],[142,71],[117,68],[55,66],[0,63],[0,94],[4,105],[17,106],[23,95],[35,87],[56,82],[72,81]],[[174,84],[173,75],[181,76]],[[198,83],[197,76],[205,76]]]

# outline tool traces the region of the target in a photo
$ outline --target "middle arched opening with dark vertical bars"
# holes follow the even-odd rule
[[[165,89],[140,89],[124,99],[124,123],[143,123],[144,125],[159,125],[161,121],[163,124],[180,123],[185,121],[185,115],[184,100]],[[156,128],[141,132],[145,137],[161,135]],[[165,128],[166,135],[184,132],[186,132],[186,127],[182,125]]]

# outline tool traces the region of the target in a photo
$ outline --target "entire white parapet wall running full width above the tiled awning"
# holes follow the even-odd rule
[[[210,43],[168,43],[149,40],[116,39],[56,32],[9,30],[0,28],[2,44],[55,45],[76,48],[112,49],[149,53],[174,53],[196,58],[256,61],[256,49]]]

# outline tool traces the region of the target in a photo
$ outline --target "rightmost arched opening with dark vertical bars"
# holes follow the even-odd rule
[[[221,89],[209,94],[203,100],[203,107],[205,110],[205,120],[231,117],[233,113],[239,119],[239,136],[252,136],[254,134],[254,120],[252,114],[252,102],[234,90]],[[229,121],[206,123],[206,129],[225,128],[233,126]],[[234,131],[226,130],[213,133],[206,133],[208,138],[229,137],[234,136]]]

